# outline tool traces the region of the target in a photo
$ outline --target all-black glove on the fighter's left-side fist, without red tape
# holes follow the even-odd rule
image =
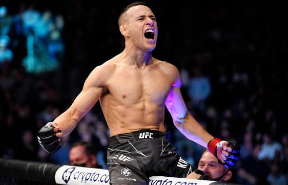
[[[54,128],[52,122],[49,122],[37,134],[41,148],[48,153],[55,153],[61,148],[60,141],[58,141],[59,137],[55,135],[57,132],[54,131]],[[58,130],[58,132],[61,132],[61,130]]]

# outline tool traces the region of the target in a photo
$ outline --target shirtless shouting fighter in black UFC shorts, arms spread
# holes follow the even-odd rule
[[[107,166],[112,185],[144,185],[152,175],[203,178],[165,138],[165,106],[188,139],[209,148],[224,165],[234,165],[237,146],[207,133],[187,111],[177,68],[152,57],[158,27],[150,8],[143,2],[132,3],[124,8],[118,23],[125,49],[96,67],[71,107],[39,131],[41,147],[57,151],[60,138],[100,99],[111,136]]]

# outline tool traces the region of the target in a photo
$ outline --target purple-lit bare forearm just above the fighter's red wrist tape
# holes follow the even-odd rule
[[[174,125],[188,139],[207,148],[208,142],[213,138],[188,112],[185,118],[173,120]]]

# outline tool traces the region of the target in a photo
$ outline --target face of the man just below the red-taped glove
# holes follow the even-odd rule
[[[202,170],[210,179],[220,177],[227,170],[224,166],[220,165],[218,159],[208,151],[203,153],[198,164],[198,169]]]

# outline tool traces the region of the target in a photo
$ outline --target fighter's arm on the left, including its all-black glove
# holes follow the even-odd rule
[[[104,68],[104,69],[103,69]],[[82,92],[76,97],[67,111],[64,111],[53,122],[48,123],[38,132],[38,141],[43,149],[54,153],[60,148],[60,137],[68,135],[92,109],[105,89],[105,81],[111,70],[107,67],[96,67],[87,77]]]

